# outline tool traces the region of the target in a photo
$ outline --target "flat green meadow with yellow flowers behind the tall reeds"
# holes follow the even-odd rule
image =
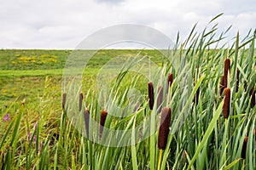
[[[44,94],[46,77],[50,79],[49,89],[55,89],[61,102],[62,70],[71,50],[0,50],[0,105],[1,108],[19,98],[37,100]],[[122,55],[150,56],[155,63],[162,58],[155,50],[100,50],[84,70],[84,79],[96,76],[97,71],[113,57]],[[60,103],[61,105],[61,103]]]

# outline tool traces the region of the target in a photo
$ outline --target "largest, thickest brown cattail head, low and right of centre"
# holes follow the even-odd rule
[[[158,135],[158,148],[160,150],[166,149],[166,143],[169,133],[169,127],[171,122],[171,108],[165,107],[161,113],[160,118],[160,128],[159,128],[159,135]]]

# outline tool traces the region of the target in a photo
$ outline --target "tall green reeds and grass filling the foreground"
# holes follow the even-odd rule
[[[172,65],[169,61],[163,62],[164,65],[152,76],[149,84],[140,79],[139,74],[133,75],[132,79],[125,77],[128,69],[117,77],[119,86],[113,86],[104,108],[98,105],[94,88],[85,92],[84,96],[78,94],[78,108],[81,114],[84,113],[82,117],[87,136],[96,138],[96,132],[90,130],[90,119],[102,122],[102,126],[108,128],[131,129],[143,123],[144,117],[153,114],[149,120],[151,124],[148,131],[154,133],[149,138],[135,144],[137,133],[145,132],[132,131],[132,145],[117,148],[96,144],[84,138],[73,127],[75,120],[67,117],[68,94],[65,94],[61,108],[61,96],[60,101],[52,99],[52,93],[47,90],[49,80],[46,79],[45,91],[39,98],[38,105],[20,105],[20,102],[14,101],[1,113],[2,120],[7,112],[15,114],[10,116],[9,122],[2,122],[1,125],[0,167],[155,169],[160,165],[162,170],[255,169],[256,141],[253,132],[256,128],[256,108],[251,107],[253,94],[250,90],[253,87],[255,89],[256,80],[256,35],[250,31],[246,37],[241,38],[237,33],[235,41],[226,48],[222,44],[226,43],[224,37],[229,29],[218,35],[218,24],[214,24],[215,20],[211,20],[210,27],[207,26],[201,33],[195,32],[193,28],[184,42],[180,42],[177,37],[177,48],[173,49],[169,57],[170,61],[173,57],[180,58],[179,66]],[[230,74],[224,73],[224,60],[227,58],[230,59]],[[175,79],[170,75],[168,77],[170,72]],[[229,116],[225,117],[226,126],[221,114],[225,105],[224,96],[222,93],[219,95],[220,88],[223,88],[219,86],[222,75],[227,75],[229,81],[226,86],[230,88],[230,111]],[[122,81],[125,82],[123,87]],[[137,83],[143,94],[142,99],[137,100],[137,110],[132,108],[134,112],[126,117],[116,118],[108,115],[106,118],[107,114],[101,116],[103,109],[113,114],[119,114],[118,111],[130,111],[126,107],[129,102],[128,89],[134,88]],[[153,84],[154,87],[162,87],[160,93],[153,93]],[[197,94],[199,88],[200,93]],[[169,133],[162,153],[158,149],[160,114],[154,114],[158,109],[154,99],[157,99],[159,94],[163,94],[161,105],[172,108],[172,122],[170,129],[166,129]],[[193,100],[195,96],[196,100]],[[195,102],[197,105],[194,105]],[[113,109],[113,104],[118,104],[121,110]],[[36,118],[30,117],[34,111],[38,112]],[[96,131],[98,134],[98,129]],[[104,131],[101,130],[100,134],[103,138]],[[108,139],[108,136],[103,139]]]

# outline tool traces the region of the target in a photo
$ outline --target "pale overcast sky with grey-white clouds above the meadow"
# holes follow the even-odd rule
[[[2,0],[0,48],[69,48],[104,27],[151,26],[175,39],[198,22],[198,31],[217,14],[219,31],[232,25],[246,35],[256,28],[255,0]]]

